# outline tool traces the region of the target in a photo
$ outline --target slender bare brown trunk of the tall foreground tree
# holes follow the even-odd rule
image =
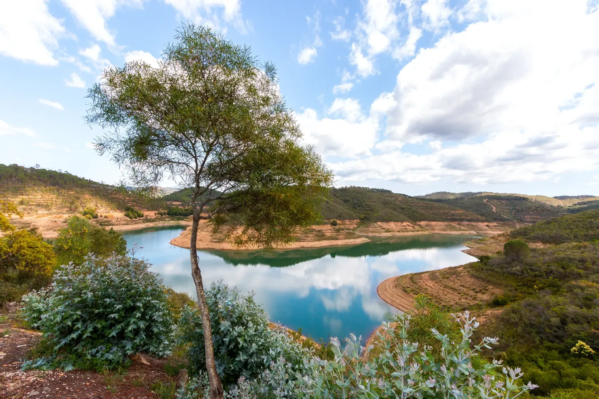
[[[195,207],[194,207],[195,208]],[[198,294],[199,313],[202,316],[202,330],[204,330],[204,348],[206,352],[206,370],[208,371],[208,380],[210,381],[210,399],[224,399],[222,382],[219,374],[216,372],[216,363],[214,362],[214,348],[212,346],[212,329],[210,328],[210,312],[204,295],[204,284],[202,283],[202,273],[198,265],[198,250],[196,249],[196,239],[198,237],[199,209],[193,209],[193,224],[191,227],[191,242],[189,243],[189,255],[191,259],[191,275],[195,282],[195,290]]]

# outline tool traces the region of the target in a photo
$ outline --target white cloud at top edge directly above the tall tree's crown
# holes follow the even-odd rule
[[[240,32],[247,31],[246,23],[241,17],[240,0],[164,0],[172,5],[183,18],[198,25],[207,25],[226,33],[226,25],[232,23]]]

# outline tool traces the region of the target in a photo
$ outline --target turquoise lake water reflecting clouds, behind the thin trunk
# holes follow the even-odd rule
[[[195,297],[189,250],[170,245],[180,227],[125,233],[136,257],[153,264],[164,283]],[[468,263],[475,258],[461,252],[471,236],[426,234],[373,239],[355,246],[293,251],[201,251],[204,285],[223,280],[242,293],[255,291],[271,321],[314,339],[367,338],[395,309],[377,296],[386,278]]]

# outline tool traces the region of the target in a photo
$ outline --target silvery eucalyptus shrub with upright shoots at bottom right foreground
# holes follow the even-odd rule
[[[497,339],[485,337],[471,345],[471,336],[479,323],[468,312],[455,317],[461,340],[452,340],[434,328],[432,334],[441,343],[435,357],[430,346],[419,348],[410,342],[411,315],[399,313],[383,323],[385,334],[377,336],[385,348],[371,361],[364,361],[367,348],[355,336],[346,339],[342,350],[338,339],[331,340],[334,361],[314,359],[318,368],[298,382],[304,397],[319,398],[516,398],[536,385],[521,385],[519,368],[506,368],[493,360],[475,367],[473,362],[482,348],[491,348]],[[396,331],[398,330],[398,331]],[[370,348],[368,348],[370,349]],[[500,369],[501,370],[498,370]],[[300,395],[298,395],[300,396]]]

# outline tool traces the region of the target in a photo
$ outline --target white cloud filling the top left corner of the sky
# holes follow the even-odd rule
[[[39,65],[58,65],[53,50],[65,28],[50,14],[46,3],[47,0],[0,3],[0,54]]]

